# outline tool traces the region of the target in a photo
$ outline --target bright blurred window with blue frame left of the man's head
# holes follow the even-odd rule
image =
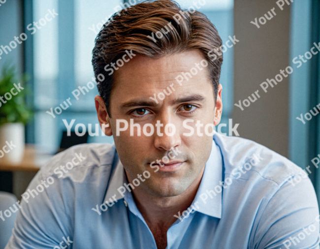
[[[94,96],[98,92],[96,86],[93,89],[87,86],[94,76],[92,49],[97,31],[115,12],[114,8],[119,9],[119,4],[117,0],[98,0],[95,4],[85,0],[33,0],[33,20],[43,18],[48,9],[58,13],[55,20],[34,33],[34,129],[35,143],[42,149],[57,150],[62,131],[66,130],[64,119],[68,125],[75,119],[71,130],[81,123],[86,124],[87,131],[88,124],[92,124],[95,132],[98,122]],[[78,87],[82,87],[85,95]],[[80,92],[78,99],[75,97],[78,91],[72,94],[75,90]],[[65,108],[65,103],[69,106],[66,110],[60,106]],[[89,136],[88,142],[112,143],[113,139],[101,136],[99,128],[99,136]]]

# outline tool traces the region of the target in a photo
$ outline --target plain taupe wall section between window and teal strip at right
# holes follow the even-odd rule
[[[275,8],[276,16],[258,29],[251,21]],[[276,0],[235,0],[234,103],[259,91],[244,110],[233,106],[233,123],[241,137],[288,156],[288,77],[263,92],[260,84],[289,65],[290,6],[280,10]]]

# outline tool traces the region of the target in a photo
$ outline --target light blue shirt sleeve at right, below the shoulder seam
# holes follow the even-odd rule
[[[265,207],[252,249],[319,249],[319,207],[306,175],[290,177]]]

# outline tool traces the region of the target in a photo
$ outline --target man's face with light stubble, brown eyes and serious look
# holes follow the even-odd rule
[[[160,59],[136,56],[119,68],[115,75],[115,86],[110,96],[112,118],[106,114],[104,122],[110,124],[111,129],[106,133],[113,134],[129,181],[149,171],[150,178],[140,181],[140,187],[156,196],[183,193],[199,175],[210,156],[212,136],[205,134],[204,127],[206,124],[218,125],[220,122],[221,86],[215,108],[213,85],[207,68],[198,65],[202,68],[200,70],[195,66],[195,63],[200,64],[202,60],[204,57],[196,50]],[[192,67],[197,68],[195,75],[191,73]],[[175,78],[182,75],[182,72],[190,73],[192,78],[189,76],[189,80],[182,80],[180,86]],[[136,127],[133,128],[133,136],[130,136],[130,119],[141,126],[141,136],[137,136]],[[183,135],[190,133],[190,129],[183,125],[187,119],[193,120],[193,123],[187,124],[194,129],[192,136]],[[127,130],[120,132],[120,136],[116,136],[117,120],[126,120],[129,125]],[[162,136],[157,132],[157,121],[163,125],[160,127]],[[199,127],[202,136],[197,134],[197,121],[203,124]],[[167,134],[164,131],[169,123],[176,128],[173,135],[169,134],[172,131],[170,128]],[[143,132],[145,124],[154,126],[153,135],[145,134],[151,131],[150,127]],[[120,126],[124,127],[124,124]],[[212,132],[212,127],[208,131]],[[169,162],[163,162],[162,157],[168,156],[172,148],[175,153],[170,154]],[[152,162],[155,162],[152,164],[154,168],[151,167]],[[160,163],[165,165],[161,167]],[[157,165],[159,171],[155,172]]]

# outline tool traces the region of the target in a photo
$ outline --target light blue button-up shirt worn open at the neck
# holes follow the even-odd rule
[[[118,190],[126,183],[114,145],[54,156],[23,195],[6,249],[157,249],[132,192]],[[176,217],[167,249],[319,249],[318,202],[306,173],[243,138],[214,134],[192,206]]]

